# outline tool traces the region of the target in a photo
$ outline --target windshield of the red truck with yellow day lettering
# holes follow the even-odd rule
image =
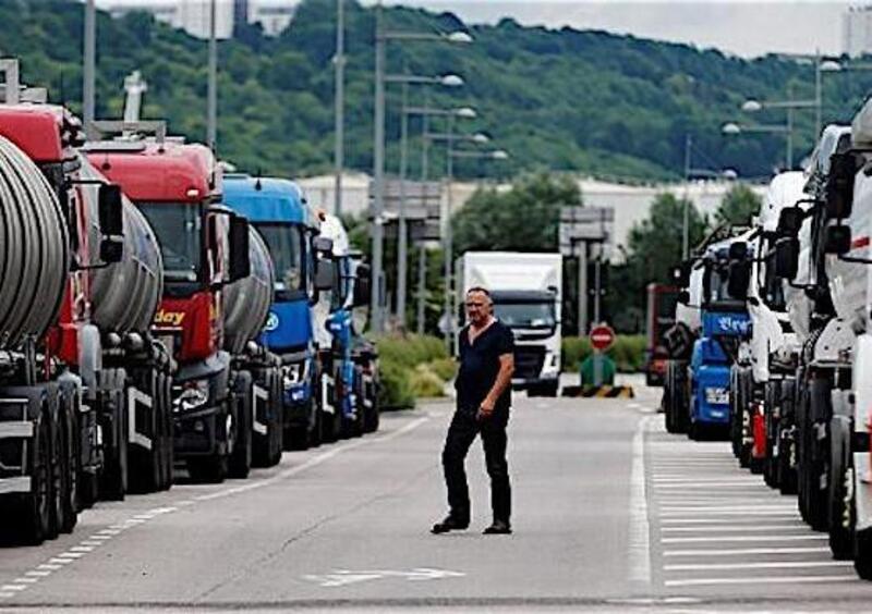
[[[199,279],[201,208],[185,202],[137,202],[160,242],[164,277],[170,283]]]

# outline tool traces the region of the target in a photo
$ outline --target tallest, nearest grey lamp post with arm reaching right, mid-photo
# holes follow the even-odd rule
[[[382,296],[384,294],[384,229],[385,211],[385,48],[388,40],[432,40],[447,42],[471,42],[472,37],[463,32],[451,34],[390,32],[384,27],[384,10],[382,2],[376,5],[375,14],[375,135],[373,150],[373,280],[370,302],[372,305],[372,329],[378,333],[384,331],[384,311]],[[450,75],[449,75],[450,76]],[[439,77],[422,77],[425,81],[408,83],[437,83]],[[459,77],[458,77],[459,78]],[[390,81],[396,82],[395,78]],[[445,84],[450,85],[450,84]],[[402,224],[404,226],[404,223]]]

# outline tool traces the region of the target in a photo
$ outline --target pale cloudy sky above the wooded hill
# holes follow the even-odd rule
[[[168,3],[173,0],[97,0]],[[203,1],[203,0],[182,0]],[[231,0],[217,0],[230,2]],[[258,0],[251,0],[256,2]],[[261,0],[264,1],[264,0]],[[268,3],[294,0],[265,0]],[[324,0],[327,1],[327,0]],[[364,0],[373,4],[376,0]],[[837,54],[843,50],[843,14],[870,0],[384,0],[431,11],[450,11],[468,23],[496,23],[509,16],[524,25],[605,29],[642,38],[687,42],[753,58],[768,52]]]

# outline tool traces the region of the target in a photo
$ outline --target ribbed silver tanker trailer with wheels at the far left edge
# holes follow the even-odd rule
[[[75,509],[64,517],[61,428],[81,386],[61,390],[57,371],[43,369],[66,291],[69,234],[52,187],[2,136],[0,219],[0,514],[4,537],[40,543],[75,520]]]

